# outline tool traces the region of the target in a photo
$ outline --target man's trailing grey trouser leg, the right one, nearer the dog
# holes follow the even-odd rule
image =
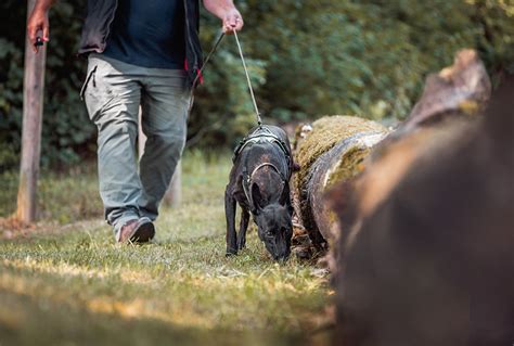
[[[142,127],[146,134],[140,162],[143,193],[141,215],[152,220],[169,185],[182,154],[187,134],[190,89],[185,73],[175,69],[149,69],[142,93]]]

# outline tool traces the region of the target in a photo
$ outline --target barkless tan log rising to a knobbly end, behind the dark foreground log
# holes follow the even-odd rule
[[[465,141],[490,92],[489,77],[475,51],[459,52],[452,66],[428,76],[409,117],[373,149],[362,172],[326,196],[339,216],[335,233],[340,241],[327,258],[333,272],[342,265],[334,262],[337,253],[351,248],[362,222],[388,201],[412,170],[424,162],[436,163]]]

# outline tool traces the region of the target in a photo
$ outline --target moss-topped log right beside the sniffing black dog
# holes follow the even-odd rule
[[[294,179],[296,213],[318,248],[335,240],[336,217],[323,194],[362,169],[371,148],[387,133],[382,125],[355,116],[325,116],[303,133],[295,151],[300,170]]]

